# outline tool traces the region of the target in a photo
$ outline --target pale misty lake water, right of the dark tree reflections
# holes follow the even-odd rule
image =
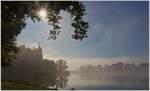
[[[148,89],[148,76],[141,74],[70,74],[65,89],[104,90],[104,89]]]

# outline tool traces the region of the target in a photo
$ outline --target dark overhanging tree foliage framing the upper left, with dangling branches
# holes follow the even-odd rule
[[[56,39],[60,32],[59,16],[61,10],[70,14],[74,28],[73,39],[82,40],[87,37],[88,23],[84,21],[85,6],[79,1],[2,1],[2,67],[6,67],[15,59],[18,52],[16,37],[26,26],[25,20],[40,21],[37,12],[45,8],[48,22],[52,26],[49,39]]]

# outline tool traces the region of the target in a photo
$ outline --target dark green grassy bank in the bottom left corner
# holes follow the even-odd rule
[[[16,83],[13,81],[1,81],[2,90],[48,90],[46,87],[34,86],[31,84]]]

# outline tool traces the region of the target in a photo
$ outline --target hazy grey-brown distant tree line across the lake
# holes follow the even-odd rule
[[[147,73],[148,74],[149,65],[148,63],[141,63],[135,65],[134,63],[123,63],[118,62],[112,65],[84,65],[80,67],[81,72],[88,73]]]

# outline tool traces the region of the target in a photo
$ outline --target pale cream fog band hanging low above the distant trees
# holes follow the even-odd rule
[[[123,62],[123,63],[134,63],[135,65],[138,65],[140,63],[146,62],[148,63],[148,59],[144,57],[116,57],[116,58],[65,58],[65,57],[55,57],[55,58],[48,58],[44,57],[46,59],[52,59],[52,60],[58,60],[58,59],[64,59],[67,61],[68,64],[68,70],[70,71],[76,71],[79,70],[80,66],[83,65],[97,65],[100,64],[102,66],[108,64],[111,65],[113,63]]]

